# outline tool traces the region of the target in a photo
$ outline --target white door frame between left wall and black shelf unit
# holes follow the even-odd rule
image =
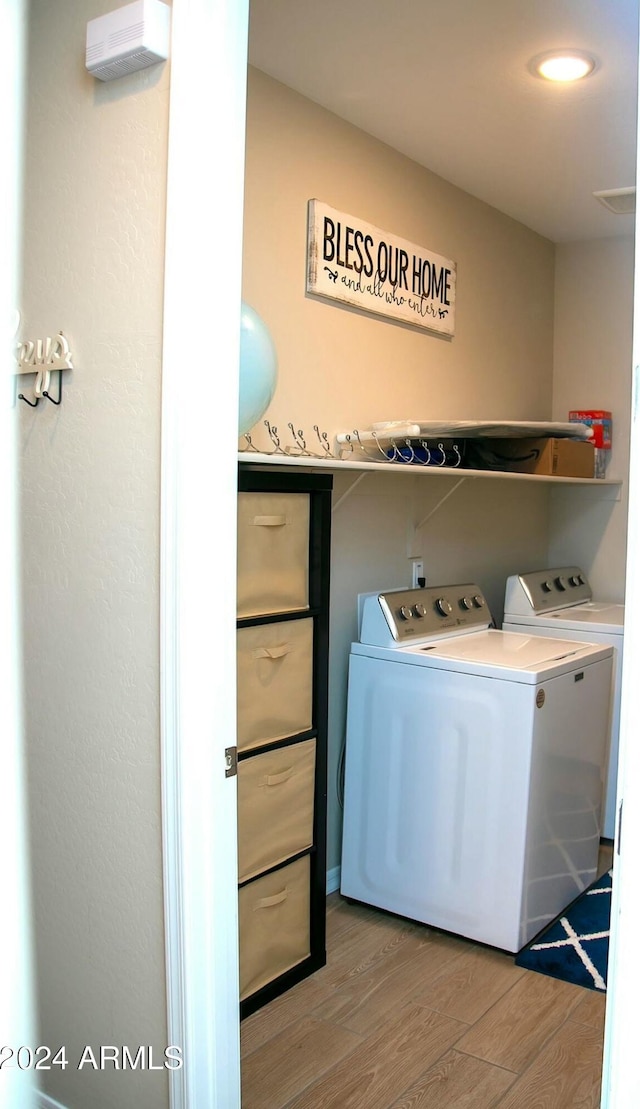
[[[172,1109],[240,1106],[235,576],[248,0],[173,0],[161,480]]]

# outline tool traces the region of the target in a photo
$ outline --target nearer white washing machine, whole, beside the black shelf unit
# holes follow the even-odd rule
[[[341,891],[517,952],[596,877],[613,652],[492,623],[476,584],[363,597]]]

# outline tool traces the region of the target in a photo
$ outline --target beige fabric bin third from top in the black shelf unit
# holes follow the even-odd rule
[[[237,765],[241,882],[313,843],[315,740],[243,759]]]

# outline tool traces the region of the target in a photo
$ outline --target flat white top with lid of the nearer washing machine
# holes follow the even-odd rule
[[[504,681],[536,683],[612,657],[612,648],[488,629],[397,648],[397,661],[455,669]]]

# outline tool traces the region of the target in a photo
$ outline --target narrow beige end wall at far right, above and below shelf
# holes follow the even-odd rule
[[[607,476],[623,485],[555,491],[549,558],[583,566],[595,594],[613,601],[624,599],[633,258],[631,235],[557,247],[553,418],[580,406],[611,411]]]

